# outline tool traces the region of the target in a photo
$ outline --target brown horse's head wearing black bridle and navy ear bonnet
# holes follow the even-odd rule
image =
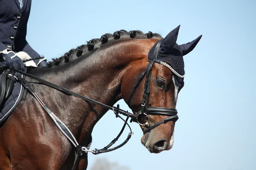
[[[146,43],[145,53],[141,54],[143,59],[134,61],[122,81],[122,96],[132,111],[140,115],[139,124],[144,132],[141,142],[151,153],[170,150],[173,146],[174,127],[178,119],[177,96],[184,85],[183,56],[192,51],[201,39],[199,36],[192,42],[177,45],[179,27],[163,40],[152,39],[151,44]],[[148,46],[153,47],[148,51]],[[152,67],[141,74],[143,70],[138,65],[143,65],[144,69],[147,65]],[[133,88],[135,84],[137,88]],[[169,108],[172,110],[166,111]]]

